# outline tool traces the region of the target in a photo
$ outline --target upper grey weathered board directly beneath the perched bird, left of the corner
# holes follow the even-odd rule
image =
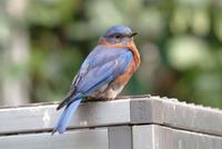
[[[57,105],[0,109],[0,133],[52,129],[61,111]],[[72,128],[130,122],[130,100],[84,102],[73,115]]]

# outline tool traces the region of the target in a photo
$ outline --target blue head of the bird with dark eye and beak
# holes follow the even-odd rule
[[[138,34],[132,32],[129,27],[113,26],[107,30],[107,32],[100,38],[107,40],[109,43],[127,43]]]

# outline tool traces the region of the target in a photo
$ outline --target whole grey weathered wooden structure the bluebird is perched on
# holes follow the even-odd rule
[[[83,102],[51,136],[56,103],[0,108],[0,149],[222,149],[222,111],[159,97]]]

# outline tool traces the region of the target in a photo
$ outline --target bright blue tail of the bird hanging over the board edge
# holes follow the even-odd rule
[[[54,132],[59,132],[59,133],[63,133],[72,118],[72,113],[74,113],[74,111],[77,110],[77,108],[79,107],[80,102],[81,102],[82,98],[77,99],[74,101],[72,101],[71,103],[69,103],[64,111],[62,112],[62,115],[60,116],[60,119],[58,121],[57,127],[53,129],[52,135]]]

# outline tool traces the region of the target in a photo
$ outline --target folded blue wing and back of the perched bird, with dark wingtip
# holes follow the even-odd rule
[[[58,109],[72,102],[74,100],[72,97],[77,92],[90,96],[90,93],[103,85],[114,80],[127,71],[132,58],[132,52],[128,49],[98,46],[82,63],[72,81],[67,98],[60,103]]]

